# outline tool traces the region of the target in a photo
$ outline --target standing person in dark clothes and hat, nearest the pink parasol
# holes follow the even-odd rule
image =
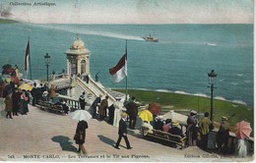
[[[221,152],[222,149],[224,152],[226,152],[227,150],[229,129],[230,129],[230,126],[227,122],[227,118],[222,117],[221,127],[219,132],[217,133],[218,152]]]

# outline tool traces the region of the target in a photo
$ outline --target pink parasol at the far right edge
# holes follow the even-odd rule
[[[236,123],[235,130],[236,130],[235,135],[238,139],[244,139],[246,137],[249,137],[252,131],[250,127],[250,123],[247,123],[245,121]]]

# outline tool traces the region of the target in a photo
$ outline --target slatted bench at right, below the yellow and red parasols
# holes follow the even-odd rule
[[[144,138],[147,137],[154,137],[157,140],[163,140],[163,141],[167,141],[167,142],[171,142],[175,145],[178,145],[180,147],[180,149],[183,149],[184,147],[186,147],[186,136],[181,137],[181,136],[177,136],[177,135],[171,135],[169,133],[166,132],[162,132],[160,130],[149,130],[148,128],[142,128],[142,136]]]

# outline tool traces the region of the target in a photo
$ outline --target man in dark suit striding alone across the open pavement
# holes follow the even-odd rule
[[[121,114],[121,119],[119,121],[119,129],[118,129],[118,139],[117,139],[117,142],[115,144],[115,148],[117,149],[120,149],[119,148],[119,144],[120,144],[120,141],[122,139],[122,137],[124,138],[125,140],[125,143],[126,143],[126,147],[127,149],[131,149],[131,145],[130,145],[130,142],[128,140],[128,137],[127,137],[127,126],[126,126],[126,118],[127,118],[127,114],[126,113],[122,113]]]

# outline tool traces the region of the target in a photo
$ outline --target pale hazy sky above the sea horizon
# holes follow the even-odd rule
[[[254,0],[0,1],[4,17],[34,24],[253,24],[253,7]]]

